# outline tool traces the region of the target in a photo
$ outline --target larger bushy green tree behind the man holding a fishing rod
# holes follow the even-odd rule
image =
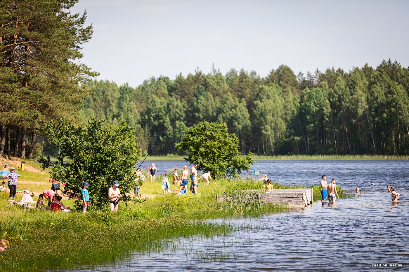
[[[108,202],[108,189],[119,181],[122,200],[129,200],[129,192],[140,181],[126,182],[133,174],[139,159],[136,137],[125,122],[119,127],[107,125],[105,120],[89,118],[86,125],[74,125],[63,119],[52,120],[44,125],[43,131],[49,136],[49,143],[60,149],[56,162],[50,157],[40,158],[43,170],[49,168],[50,176],[66,183],[65,192],[79,197],[83,182],[90,184],[90,204],[102,207]],[[68,162],[64,163],[67,158]]]

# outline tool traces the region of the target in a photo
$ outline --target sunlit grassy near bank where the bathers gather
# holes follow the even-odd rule
[[[27,165],[38,167],[34,162]],[[20,190],[42,192],[49,189],[48,174],[36,171],[36,175],[21,172],[21,179],[26,183],[18,183]],[[142,193],[155,197],[142,203],[121,202],[116,214],[110,212],[108,204],[103,210],[91,208],[87,214],[25,210],[7,206],[8,194],[0,193],[0,235],[10,242],[7,251],[0,255],[0,271],[36,272],[56,268],[77,269],[83,265],[113,265],[126,260],[134,251],[172,248],[172,244],[166,241],[189,236],[228,235],[236,231],[236,226],[203,221],[205,219],[253,217],[286,210],[282,205],[223,205],[216,202],[216,194],[261,189],[263,185],[258,181],[223,178],[211,185],[199,183],[198,191],[202,196],[190,198],[160,195],[163,192],[161,180],[162,177],[158,176],[156,182],[146,182],[140,189]],[[274,184],[276,189],[288,187]],[[171,189],[177,188],[171,184]],[[314,187],[314,199],[320,196],[318,189]],[[339,192],[342,192],[341,188]],[[16,198],[21,196],[18,194]],[[72,200],[65,198],[62,202],[67,207],[74,206]],[[112,241],[115,241],[114,246]]]

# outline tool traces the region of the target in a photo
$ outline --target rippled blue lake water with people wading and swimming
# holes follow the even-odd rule
[[[164,172],[184,162],[155,164]],[[409,161],[260,161],[254,170],[279,183],[307,186],[325,174],[345,190],[364,192],[333,205],[316,202],[259,218],[211,220],[247,227],[229,236],[165,240],[169,250],[135,253],[115,268],[89,271],[409,271]],[[399,204],[391,204],[387,185],[401,194]]]

